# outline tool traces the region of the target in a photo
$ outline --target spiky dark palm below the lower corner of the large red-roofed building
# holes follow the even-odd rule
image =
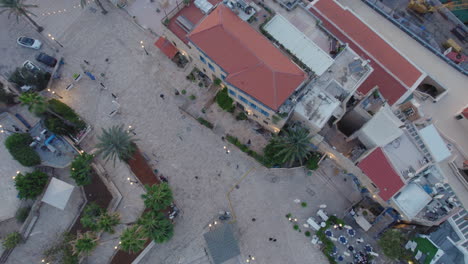
[[[277,151],[273,157],[283,163],[287,162],[289,166],[297,161],[302,165],[312,149],[309,131],[306,128],[298,127],[285,130],[283,133],[283,136],[277,136],[271,142],[271,148]]]

